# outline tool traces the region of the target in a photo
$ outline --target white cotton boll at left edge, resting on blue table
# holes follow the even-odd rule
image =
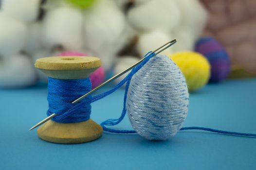
[[[27,56],[15,54],[1,60],[0,87],[26,87],[36,82],[36,72]]]

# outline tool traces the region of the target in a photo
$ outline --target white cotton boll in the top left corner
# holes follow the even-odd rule
[[[40,0],[2,0],[1,3],[5,14],[31,22],[37,18]]]

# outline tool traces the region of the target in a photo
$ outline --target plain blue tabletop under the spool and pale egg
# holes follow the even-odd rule
[[[106,87],[102,90],[108,90]],[[92,103],[100,123],[120,116],[124,89]],[[45,85],[0,89],[0,170],[255,170],[256,138],[179,132],[165,141],[104,133],[82,144],[55,144],[28,129],[46,117]],[[256,133],[256,79],[226,80],[190,94],[184,126]],[[126,117],[116,126],[131,129]]]

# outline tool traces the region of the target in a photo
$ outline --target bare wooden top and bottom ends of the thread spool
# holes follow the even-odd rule
[[[100,66],[99,58],[88,56],[44,57],[35,63],[35,67],[48,77],[63,80],[87,78]],[[68,144],[95,140],[101,136],[102,131],[102,127],[92,119],[77,123],[49,120],[37,129],[37,134],[49,142]]]

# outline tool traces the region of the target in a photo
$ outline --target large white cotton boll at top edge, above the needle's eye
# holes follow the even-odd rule
[[[150,0],[128,12],[128,22],[139,31],[169,31],[180,23],[181,13],[174,0]]]

